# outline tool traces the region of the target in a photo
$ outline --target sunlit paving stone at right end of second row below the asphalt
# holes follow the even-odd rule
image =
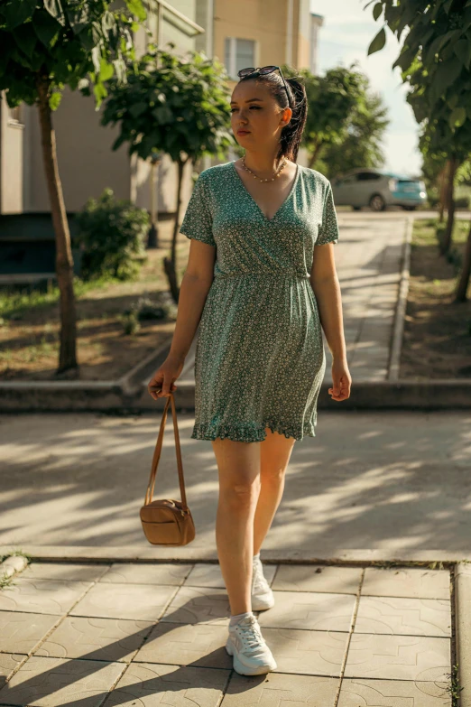
[[[355,633],[451,637],[451,604],[444,599],[360,597]]]

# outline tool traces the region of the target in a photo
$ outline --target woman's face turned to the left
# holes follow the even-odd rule
[[[256,79],[240,81],[232,92],[231,126],[242,147],[278,144],[291,114],[291,108],[281,108],[267,86]]]

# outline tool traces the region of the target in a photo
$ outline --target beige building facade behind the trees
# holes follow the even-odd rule
[[[309,11],[309,0],[154,0],[147,25],[149,40],[140,31],[137,51],[149,41],[165,48],[173,42],[180,55],[204,51],[217,57],[229,75],[231,88],[237,70],[247,66],[288,63],[293,69],[316,72],[317,38],[322,18]],[[150,209],[151,166],[129,157],[123,144],[111,149],[117,128],[100,125],[101,111],[92,97],[78,91],[64,91],[59,109],[53,114],[60,181],[66,209],[73,214],[89,197],[97,198],[110,187],[122,199]],[[303,161],[300,151],[300,162]],[[227,159],[234,155],[228,154]],[[211,158],[202,166],[215,163]],[[193,165],[187,165],[183,184],[184,203],[192,188]],[[176,208],[177,168],[165,156],[157,170],[154,189],[159,215]],[[11,109],[0,100],[0,275],[10,272],[22,260],[20,242],[37,238],[49,228],[53,241],[49,196],[42,165],[42,146],[36,107]],[[21,217],[27,217],[21,219]],[[16,234],[16,236],[15,236]],[[6,240],[5,240],[6,239]],[[23,239],[23,241],[22,241]],[[15,242],[12,263],[2,244]],[[24,253],[28,250],[23,247]],[[30,248],[30,253],[32,248]],[[3,265],[2,265],[3,263]],[[16,265],[14,265],[16,264]],[[31,268],[28,259],[20,269]]]

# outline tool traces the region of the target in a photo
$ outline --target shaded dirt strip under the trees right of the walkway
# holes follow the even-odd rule
[[[461,256],[468,230],[466,220],[455,224]],[[456,286],[456,266],[439,256],[433,222],[415,221],[400,377],[471,377],[471,285],[466,302],[453,302]]]

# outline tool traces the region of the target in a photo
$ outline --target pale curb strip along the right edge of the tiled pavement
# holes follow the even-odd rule
[[[458,703],[471,707],[471,564],[455,566],[455,616]]]

